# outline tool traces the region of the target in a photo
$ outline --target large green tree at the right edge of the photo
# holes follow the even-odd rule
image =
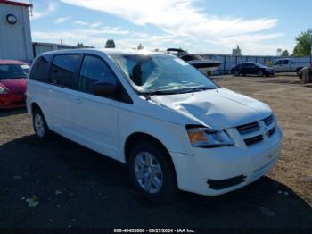
[[[297,45],[293,49],[293,55],[296,57],[311,55],[312,47],[312,29],[301,32],[296,37]]]

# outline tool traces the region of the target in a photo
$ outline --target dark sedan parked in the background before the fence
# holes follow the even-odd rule
[[[262,77],[275,75],[275,71],[272,68],[253,62],[239,63],[232,68],[231,73],[235,76],[258,75]]]

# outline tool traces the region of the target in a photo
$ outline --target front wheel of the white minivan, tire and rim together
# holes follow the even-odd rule
[[[177,177],[170,155],[154,142],[132,147],[128,169],[137,191],[155,203],[167,203],[177,194]]]

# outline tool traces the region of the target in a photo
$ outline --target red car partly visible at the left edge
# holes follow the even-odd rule
[[[0,60],[0,109],[25,106],[28,73],[27,63]]]

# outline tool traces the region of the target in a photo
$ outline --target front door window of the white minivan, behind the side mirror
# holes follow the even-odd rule
[[[86,55],[80,71],[79,90],[93,94],[93,85],[96,82],[117,85],[114,73],[101,58]]]

